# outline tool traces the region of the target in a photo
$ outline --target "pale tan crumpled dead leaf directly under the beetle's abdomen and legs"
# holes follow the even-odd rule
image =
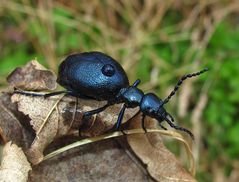
[[[115,105],[107,108],[104,112],[94,115],[82,121],[82,112],[98,108],[105,102],[78,99],[78,107],[75,120],[70,128],[76,98],[64,97],[56,108],[50,113],[51,108],[59,100],[60,96],[54,96],[47,99],[42,97],[29,97],[19,94],[12,96],[12,101],[17,102],[18,110],[31,118],[31,125],[37,133],[30,149],[27,152],[28,159],[33,164],[37,164],[43,159],[44,149],[55,139],[65,136],[70,132],[78,131],[81,127],[81,136],[90,137],[102,134],[111,129],[117,121],[121,105]],[[129,109],[125,113],[125,122],[137,112],[137,109]],[[49,115],[50,113],[50,115]],[[49,117],[47,117],[49,115]],[[42,123],[46,121],[40,132]]]

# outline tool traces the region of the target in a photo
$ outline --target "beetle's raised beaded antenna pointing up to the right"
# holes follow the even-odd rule
[[[195,77],[195,76],[199,76],[201,74],[203,74],[204,72],[208,71],[208,68],[204,68],[203,70],[196,72],[196,73],[190,73],[187,75],[184,75],[180,78],[180,80],[178,81],[177,85],[174,87],[173,91],[171,91],[171,93],[168,95],[168,97],[166,99],[164,99],[162,106],[164,104],[166,104],[173,95],[175,95],[175,93],[178,91],[180,85],[183,83],[184,80],[186,80],[187,78],[191,78],[191,77]]]

